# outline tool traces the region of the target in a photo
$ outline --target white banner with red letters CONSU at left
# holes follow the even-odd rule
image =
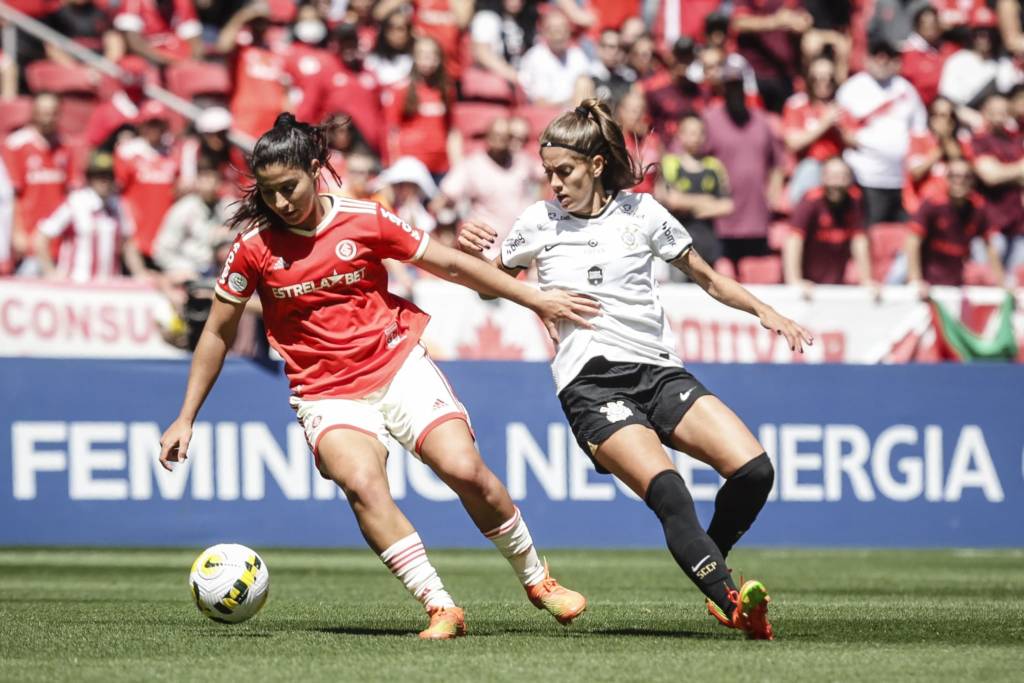
[[[0,279],[0,356],[181,357],[160,332],[171,314],[158,290],[130,281]]]

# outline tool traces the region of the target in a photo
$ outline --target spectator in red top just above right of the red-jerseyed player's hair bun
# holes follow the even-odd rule
[[[384,141],[382,91],[377,77],[364,67],[355,28],[347,24],[337,27],[331,35],[331,50],[338,58],[303,93],[296,116],[310,123],[346,116],[374,153],[380,154]]]

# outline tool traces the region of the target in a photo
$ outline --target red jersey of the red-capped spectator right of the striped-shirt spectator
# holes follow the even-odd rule
[[[135,224],[135,244],[146,256],[153,254],[153,241],[174,203],[179,168],[177,158],[155,150],[141,137],[125,140],[114,151],[121,200]]]

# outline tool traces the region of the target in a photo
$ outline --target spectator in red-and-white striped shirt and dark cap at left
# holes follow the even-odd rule
[[[145,276],[145,265],[132,238],[134,225],[124,211],[108,153],[92,156],[86,185],[71,193],[39,225],[36,253],[47,278],[88,283],[121,274],[121,260],[133,278]],[[59,241],[54,263],[51,249]]]

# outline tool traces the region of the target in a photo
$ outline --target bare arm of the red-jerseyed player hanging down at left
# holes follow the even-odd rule
[[[219,296],[213,299],[210,316],[206,319],[206,326],[193,353],[181,411],[160,438],[160,464],[165,470],[173,470],[172,463],[182,462],[188,457],[193,423],[217,381],[227,349],[234,343],[239,321],[242,319],[245,308],[245,302],[226,301]]]

